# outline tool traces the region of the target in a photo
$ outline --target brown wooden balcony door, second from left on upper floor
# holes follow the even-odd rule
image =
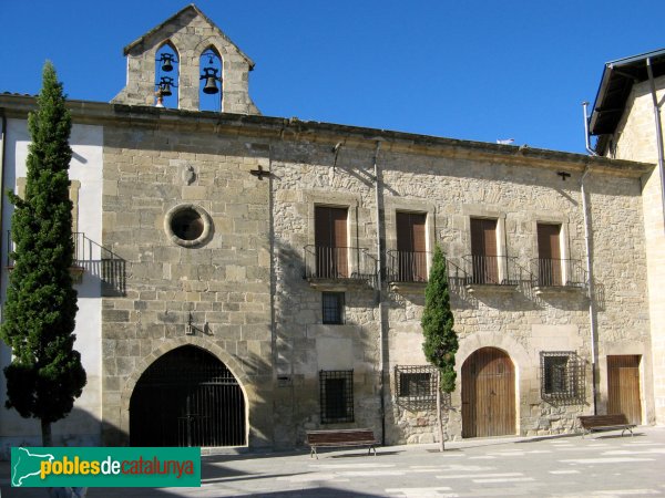
[[[427,215],[397,212],[397,279],[400,282],[427,281],[427,247],[424,222]]]

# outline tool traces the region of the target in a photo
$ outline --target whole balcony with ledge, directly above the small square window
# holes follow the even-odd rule
[[[376,286],[377,260],[357,247],[305,246],[305,279],[320,290]]]

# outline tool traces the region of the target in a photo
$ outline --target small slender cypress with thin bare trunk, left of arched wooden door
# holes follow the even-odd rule
[[[454,355],[459,349],[454,332],[454,318],[450,310],[448,292],[448,272],[446,258],[441,248],[434,248],[429,281],[424,291],[424,310],[421,319],[424,342],[422,351],[428,362],[438,370],[437,382],[437,421],[439,424],[440,447],[443,450],[443,424],[441,421],[441,391],[452,393],[457,373]]]

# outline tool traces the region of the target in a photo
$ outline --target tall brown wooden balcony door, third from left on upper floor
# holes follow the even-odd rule
[[[471,218],[473,283],[501,283],[497,255],[497,220]]]

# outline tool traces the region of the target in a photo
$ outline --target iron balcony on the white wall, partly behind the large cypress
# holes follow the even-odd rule
[[[125,260],[113,251],[100,246],[85,237],[84,232],[72,234],[74,242],[74,258],[70,273],[74,283],[83,281],[83,273],[99,278],[102,286],[102,295],[124,295],[125,293]],[[7,232],[7,269],[14,268],[12,258],[16,250],[11,231]]]

